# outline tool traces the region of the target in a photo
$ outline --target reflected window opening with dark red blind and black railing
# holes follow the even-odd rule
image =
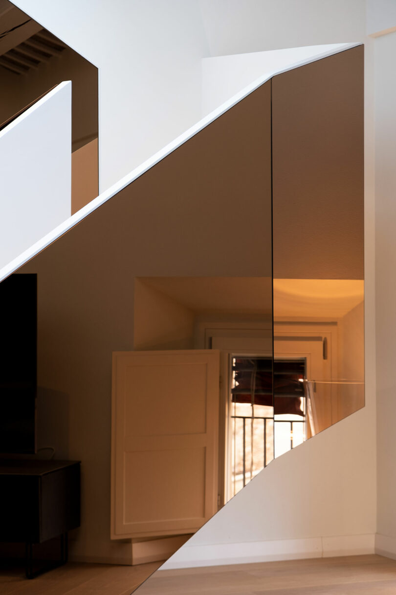
[[[273,380],[274,375],[274,380]],[[306,438],[305,360],[232,358],[231,495]],[[274,396],[273,396],[274,383]]]

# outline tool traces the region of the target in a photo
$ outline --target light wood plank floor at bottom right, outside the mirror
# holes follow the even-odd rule
[[[156,572],[135,595],[396,595],[396,560],[316,558]]]

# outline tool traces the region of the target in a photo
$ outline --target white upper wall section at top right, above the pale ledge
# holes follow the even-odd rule
[[[362,41],[365,4],[365,0],[199,0],[212,56]]]

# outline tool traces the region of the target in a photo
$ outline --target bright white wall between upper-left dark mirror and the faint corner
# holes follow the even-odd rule
[[[16,0],[99,67],[100,191],[201,117],[197,0]]]

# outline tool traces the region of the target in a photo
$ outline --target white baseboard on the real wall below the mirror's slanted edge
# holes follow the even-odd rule
[[[249,543],[221,543],[202,546],[188,546],[186,544],[161,566],[161,571],[196,566],[354,556],[372,554],[374,548],[374,534],[252,541]]]

